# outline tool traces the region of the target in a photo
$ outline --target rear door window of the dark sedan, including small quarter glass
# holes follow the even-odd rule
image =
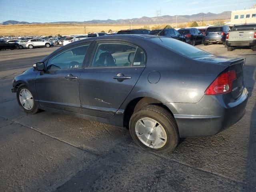
[[[102,43],[90,67],[144,66],[145,53],[137,46],[124,43]]]

